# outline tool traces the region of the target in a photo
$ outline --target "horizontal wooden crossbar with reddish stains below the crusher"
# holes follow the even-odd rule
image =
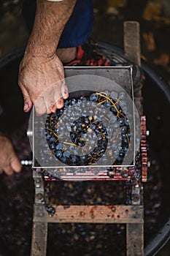
[[[50,217],[45,206],[34,206],[34,222],[143,223],[143,206],[53,206]]]

